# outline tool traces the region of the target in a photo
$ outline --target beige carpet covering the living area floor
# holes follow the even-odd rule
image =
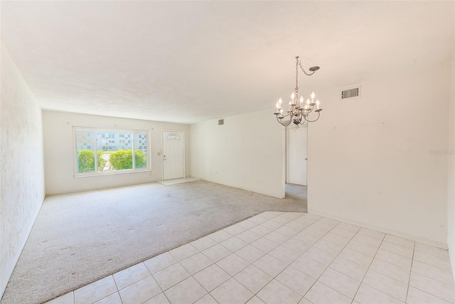
[[[198,180],[46,197],[1,304],[42,303],[266,210],[306,212],[306,188],[288,192]]]

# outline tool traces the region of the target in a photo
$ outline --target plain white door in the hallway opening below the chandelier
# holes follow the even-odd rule
[[[287,136],[287,182],[306,185],[307,128],[289,128]]]

